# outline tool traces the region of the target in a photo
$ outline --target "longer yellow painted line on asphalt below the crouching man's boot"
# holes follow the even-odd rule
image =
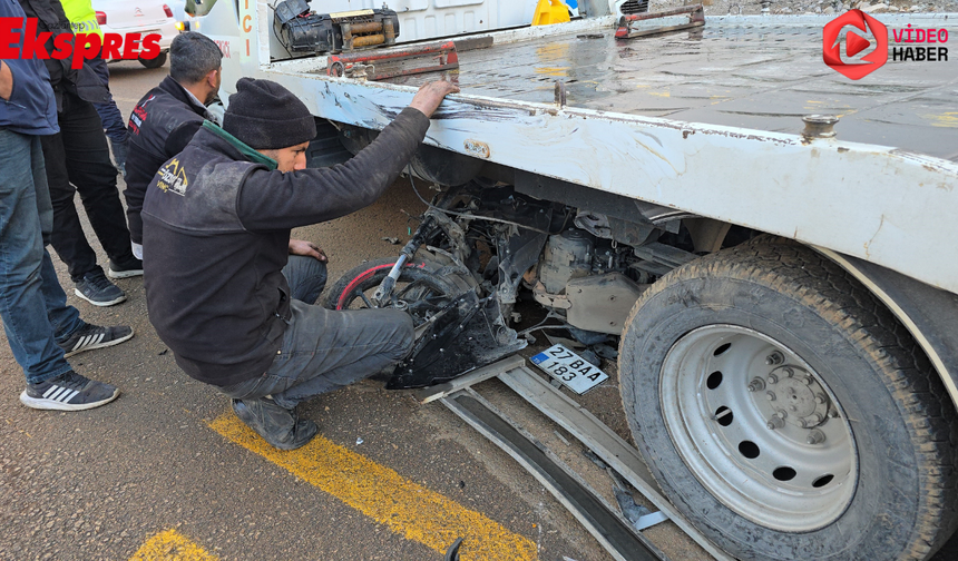
[[[532,561],[536,544],[486,515],[407,480],[349,449],[317,435],[283,452],[266,444],[232,413],[211,429],[335,496],[407,540],[444,553],[458,538],[462,561]]]

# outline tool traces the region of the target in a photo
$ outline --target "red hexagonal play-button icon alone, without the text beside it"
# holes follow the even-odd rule
[[[874,37],[873,51],[861,58],[856,55],[871,47],[871,41],[847,27],[861,30]],[[844,57],[841,52],[841,32],[845,30]],[[860,80],[888,62],[888,28],[861,10],[849,10],[825,23],[822,35],[822,58],[825,65],[852,80]]]

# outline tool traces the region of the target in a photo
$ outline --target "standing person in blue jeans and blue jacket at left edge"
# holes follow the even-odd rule
[[[0,18],[23,17],[14,0],[0,0]],[[27,377],[20,401],[79,411],[109,403],[119,391],[76,373],[66,357],[123,343],[133,329],[84,322],[57,279],[45,247],[53,210],[40,147],[57,130],[46,67],[36,58],[0,60],[0,317]]]

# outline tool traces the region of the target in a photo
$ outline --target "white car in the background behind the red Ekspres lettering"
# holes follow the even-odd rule
[[[166,63],[169,43],[179,33],[170,4],[175,2],[130,2],[128,0],[94,0],[97,23],[104,33],[158,33],[159,55],[153,59],[139,59],[146,68],[159,68]]]

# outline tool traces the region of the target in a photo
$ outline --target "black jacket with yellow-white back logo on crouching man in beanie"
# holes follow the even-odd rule
[[[177,364],[218,386],[263,375],[290,318],[290,229],[371,205],[428,128],[405,108],[348,163],[285,174],[202,128],[160,167],[141,213],[149,321]]]

